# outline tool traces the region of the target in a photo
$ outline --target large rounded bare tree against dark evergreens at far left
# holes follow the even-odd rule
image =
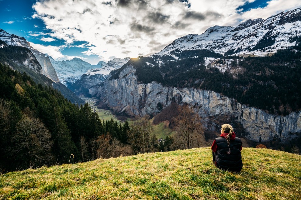
[[[15,146],[12,153],[26,162],[26,167],[38,167],[49,164],[53,141],[43,122],[37,118],[25,117],[17,124],[12,140]],[[23,163],[24,165],[24,163]]]

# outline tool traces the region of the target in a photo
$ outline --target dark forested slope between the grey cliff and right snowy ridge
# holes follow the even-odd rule
[[[271,114],[285,116],[301,108],[299,51],[284,49],[272,56],[246,58],[207,50],[178,51],[173,55],[178,59],[158,55],[131,59],[113,71],[111,79],[117,79],[121,70],[133,65],[141,83],[156,81],[178,88],[211,90]],[[208,57],[219,58],[214,63],[226,70],[222,72],[212,63],[205,65]]]

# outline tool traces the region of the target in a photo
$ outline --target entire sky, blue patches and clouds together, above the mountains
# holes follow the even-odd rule
[[[151,55],[210,26],[299,7],[300,0],[0,0],[0,28],[54,59],[96,64]]]

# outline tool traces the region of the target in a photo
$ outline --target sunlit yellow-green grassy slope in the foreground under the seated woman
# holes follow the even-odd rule
[[[209,147],[98,159],[0,175],[0,199],[301,199],[301,156],[243,148],[240,173]]]

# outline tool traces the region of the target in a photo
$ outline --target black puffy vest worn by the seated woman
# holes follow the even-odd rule
[[[220,169],[239,172],[242,169],[242,161],[240,154],[241,140],[236,137],[230,141],[231,154],[227,154],[229,150],[227,140],[223,137],[215,139],[217,151],[215,153],[216,166]]]

